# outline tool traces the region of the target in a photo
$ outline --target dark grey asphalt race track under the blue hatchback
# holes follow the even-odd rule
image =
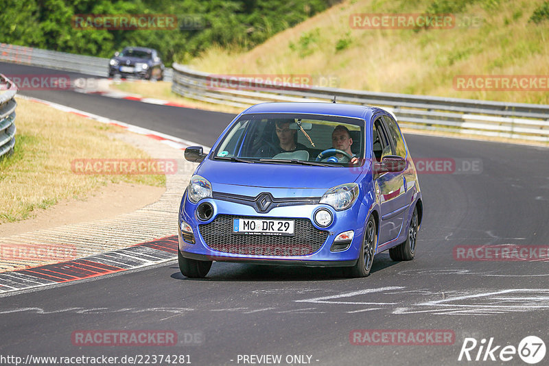
[[[0,72],[52,71],[0,63]],[[230,114],[72,91],[21,94],[208,146],[231,121]],[[501,346],[495,357],[526,336],[547,343],[548,263],[456,260],[454,248],[548,247],[549,150],[415,134],[406,141],[414,160],[482,162],[481,171],[419,176],[425,215],[413,261],[377,254],[362,279],[343,278],[337,269],[214,263],[204,280],[183,278],[172,262],[16,293],[0,297],[0,354],[178,354],[189,355],[192,365],[242,365],[238,355],[278,354],[283,361],[305,355],[313,365],[460,365],[467,363],[458,361],[467,337],[479,345],[493,337]],[[451,330],[455,337],[451,345],[353,345],[349,334],[357,329]],[[80,330],[170,330],[178,344],[74,345],[71,335]],[[525,365],[512,356],[504,364]]]

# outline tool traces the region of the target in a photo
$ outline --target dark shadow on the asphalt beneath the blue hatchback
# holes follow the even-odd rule
[[[396,265],[389,258],[388,254],[380,253],[375,256],[375,260],[370,271],[370,276],[382,271],[382,269]],[[283,265],[254,265],[247,263],[227,263],[214,262],[206,278],[186,278],[178,270],[177,266],[170,267],[177,269],[172,274],[176,280],[186,281],[309,281],[309,280],[353,280],[346,276],[341,267],[305,267],[305,266],[283,266]]]

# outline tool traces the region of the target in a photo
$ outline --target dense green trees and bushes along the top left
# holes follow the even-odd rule
[[[305,21],[338,0],[3,0],[0,40],[111,57],[126,46],[158,49],[164,63],[185,62],[213,45],[250,49]],[[75,29],[75,14],[174,14],[196,16],[198,27],[175,30]],[[7,26],[9,25],[9,26]]]

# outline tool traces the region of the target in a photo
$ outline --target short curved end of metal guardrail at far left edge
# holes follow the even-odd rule
[[[0,158],[10,154],[15,146],[16,86],[0,74]]]

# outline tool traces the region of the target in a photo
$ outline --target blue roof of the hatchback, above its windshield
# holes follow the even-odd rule
[[[367,115],[371,115],[377,111],[381,111],[381,109],[376,107],[369,107],[369,106],[359,106],[356,104],[293,102],[293,103],[260,103],[248,108],[247,110],[242,112],[242,114],[303,113],[303,114],[326,114],[329,116],[365,119]]]

